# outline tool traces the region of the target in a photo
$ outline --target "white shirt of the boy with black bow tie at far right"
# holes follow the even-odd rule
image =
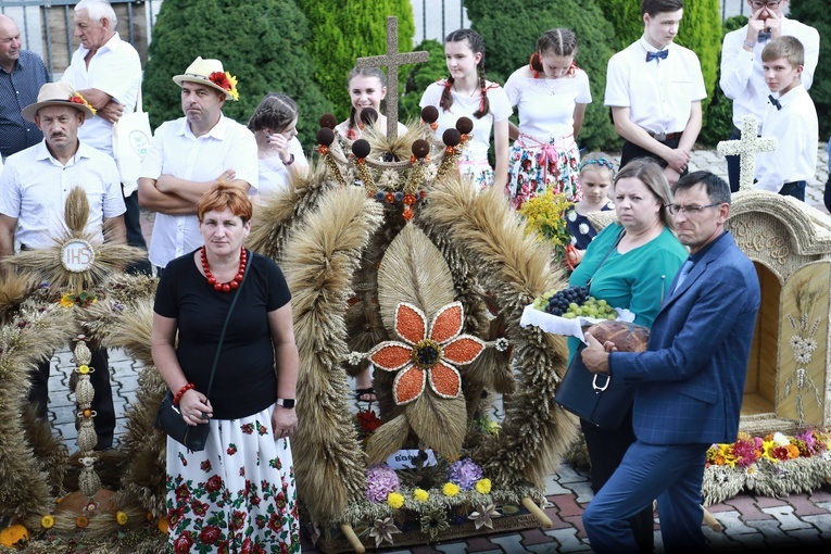
[[[754,188],[771,192],[779,192],[785,182],[813,179],[819,150],[817,110],[805,87],[792,88],[779,97],[779,103],[781,110],[768,101],[761,124],[763,137],[779,140],[777,149],[756,158],[758,181]]]

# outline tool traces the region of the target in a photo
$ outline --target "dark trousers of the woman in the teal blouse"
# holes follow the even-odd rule
[[[589,449],[592,490],[596,495],[620,465],[626,451],[635,441],[632,410],[629,410],[624,423],[616,431],[601,429],[584,419],[580,419],[580,427],[586,438],[586,446]],[[652,552],[655,545],[655,516],[652,503],[629,518],[629,527],[632,529],[638,549],[642,553]]]

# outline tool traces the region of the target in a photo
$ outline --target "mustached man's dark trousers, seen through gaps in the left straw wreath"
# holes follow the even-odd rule
[[[92,420],[98,435],[96,450],[106,450],[113,445],[115,433],[115,406],[113,406],[113,390],[110,387],[110,356],[106,349],[91,351],[92,360],[89,365],[95,369],[89,376],[96,395],[92,399],[92,410],[96,417]],[[47,419],[49,404],[49,374],[51,360],[38,364],[37,370],[32,374],[32,390],[29,402],[36,406],[38,417]]]

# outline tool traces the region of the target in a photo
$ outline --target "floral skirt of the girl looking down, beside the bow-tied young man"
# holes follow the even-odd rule
[[[554,188],[571,202],[580,200],[577,165],[580,150],[574,139],[561,139],[544,146],[514,142],[508,158],[506,192],[511,205],[519,209],[533,197]]]

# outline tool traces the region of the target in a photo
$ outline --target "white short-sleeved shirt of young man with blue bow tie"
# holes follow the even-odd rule
[[[657,49],[643,37],[613,55],[605,105],[629,108],[629,118],[654,135],[682,133],[693,102],[707,98],[695,52],[671,42],[665,60],[646,61]]]

